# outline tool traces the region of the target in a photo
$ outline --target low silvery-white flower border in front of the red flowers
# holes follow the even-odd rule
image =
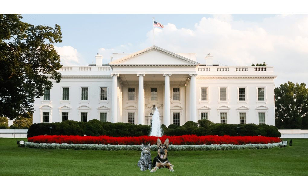
[[[41,148],[41,149],[74,149],[74,150],[137,150],[141,151],[141,145],[104,145],[104,144],[47,144],[47,143],[31,143],[25,142],[25,147]],[[242,150],[242,149],[270,149],[275,147],[283,147],[280,143],[268,144],[245,144],[245,145],[232,145],[232,144],[211,144],[211,145],[172,145],[168,146],[170,151],[197,151],[197,150]],[[157,150],[157,145],[151,146],[152,151]]]

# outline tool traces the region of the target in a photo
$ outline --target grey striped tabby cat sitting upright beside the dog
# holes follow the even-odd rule
[[[150,145],[143,145],[141,144],[141,157],[138,161],[137,166],[140,167],[141,171],[145,171],[147,169],[152,169],[152,158],[151,158],[151,151],[150,151]]]

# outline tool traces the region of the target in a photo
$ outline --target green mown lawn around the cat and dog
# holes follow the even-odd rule
[[[308,139],[293,139],[293,146],[263,150],[169,151],[174,172],[140,171],[141,151],[47,150],[18,147],[16,140],[0,138],[0,176],[18,175],[308,175]],[[290,139],[285,139],[289,142]],[[151,151],[152,159],[156,151]]]

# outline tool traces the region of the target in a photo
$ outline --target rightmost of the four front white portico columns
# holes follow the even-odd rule
[[[191,76],[189,83],[189,96],[190,96],[190,117],[189,120],[197,122],[197,103],[196,103],[196,76],[197,74],[189,74]]]

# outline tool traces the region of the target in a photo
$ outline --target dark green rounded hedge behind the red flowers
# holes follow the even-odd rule
[[[50,132],[50,127],[52,127]],[[162,125],[164,135],[229,135],[229,136],[267,136],[280,137],[281,133],[275,126],[266,124],[225,124],[213,123],[209,120],[199,120],[198,123],[188,121],[183,126],[171,124],[168,128]],[[28,130],[27,137],[38,135],[107,135],[113,137],[149,135],[151,126],[134,125],[131,123],[100,122],[93,119],[89,122],[67,120],[61,123],[34,123]]]

